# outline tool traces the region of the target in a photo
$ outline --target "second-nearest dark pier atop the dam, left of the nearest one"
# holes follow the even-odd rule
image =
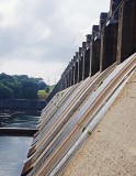
[[[101,33],[100,70],[116,62],[118,34],[118,6],[121,0],[111,0],[106,24]]]

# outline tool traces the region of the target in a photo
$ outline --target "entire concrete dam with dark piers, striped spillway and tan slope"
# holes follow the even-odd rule
[[[136,1],[111,0],[46,100],[21,176],[136,176]]]

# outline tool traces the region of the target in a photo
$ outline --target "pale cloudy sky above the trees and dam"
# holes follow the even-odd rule
[[[0,74],[56,84],[110,0],[0,0]]]

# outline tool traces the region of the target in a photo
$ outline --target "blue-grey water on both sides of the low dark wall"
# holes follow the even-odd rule
[[[36,129],[39,113],[0,116],[0,128]],[[32,136],[3,135],[0,132],[0,176],[20,176]]]

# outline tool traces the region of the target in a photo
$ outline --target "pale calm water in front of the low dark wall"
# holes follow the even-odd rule
[[[0,176],[20,176],[32,138],[0,136]]]

